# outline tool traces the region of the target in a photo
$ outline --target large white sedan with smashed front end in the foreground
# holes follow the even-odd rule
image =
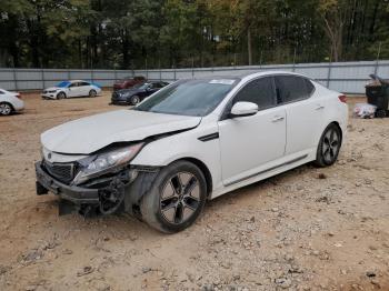
[[[177,232],[208,199],[335,163],[347,118],[345,96],[300,74],[181,80],[132,109],[42,133],[37,193],[60,197],[62,213],[128,212]]]

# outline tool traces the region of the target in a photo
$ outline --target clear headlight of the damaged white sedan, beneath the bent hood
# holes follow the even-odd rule
[[[80,184],[91,178],[126,165],[137,155],[143,144],[144,143],[141,142],[80,160],[79,163],[81,164],[81,170],[76,175],[73,182]]]

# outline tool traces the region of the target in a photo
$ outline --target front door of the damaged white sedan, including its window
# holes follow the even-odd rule
[[[277,107],[273,78],[247,83],[233,97],[228,111],[239,101],[257,103],[259,111],[255,116],[227,117],[219,121],[225,185],[259,174],[267,163],[285,154],[287,116],[285,107]]]

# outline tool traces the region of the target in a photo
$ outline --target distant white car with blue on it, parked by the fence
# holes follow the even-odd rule
[[[98,84],[83,81],[72,80],[58,83],[56,87],[44,89],[41,97],[43,99],[64,99],[72,97],[97,97],[101,93]]]

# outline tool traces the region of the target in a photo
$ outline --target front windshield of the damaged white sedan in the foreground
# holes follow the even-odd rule
[[[134,110],[205,117],[225,99],[239,79],[181,80],[154,93]]]

